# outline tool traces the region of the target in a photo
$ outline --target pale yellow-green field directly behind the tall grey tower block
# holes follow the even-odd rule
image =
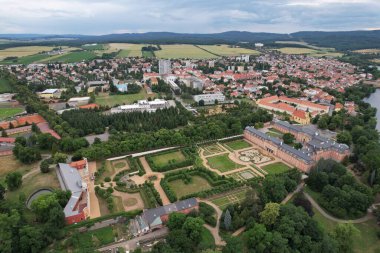
[[[161,50],[155,51],[157,58],[164,59],[211,59],[217,58],[216,55],[210,54],[194,45],[176,44],[161,45]]]

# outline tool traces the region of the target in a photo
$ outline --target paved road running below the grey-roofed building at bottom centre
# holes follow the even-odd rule
[[[110,251],[110,250],[112,250],[114,248],[118,248],[118,247],[124,247],[127,250],[132,251],[132,250],[135,250],[136,248],[139,247],[137,245],[137,243],[141,243],[141,242],[145,243],[145,242],[149,242],[149,241],[154,241],[155,239],[160,239],[162,237],[167,236],[168,233],[169,233],[169,229],[164,227],[164,228],[161,228],[160,230],[156,230],[152,233],[142,235],[140,237],[136,237],[136,238],[133,238],[133,239],[128,240],[128,241],[117,242],[117,243],[114,243],[112,245],[108,245],[108,246],[99,248],[98,251],[105,252],[105,251]]]

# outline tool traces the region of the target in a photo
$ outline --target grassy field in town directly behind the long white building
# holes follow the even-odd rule
[[[134,101],[147,99],[148,97],[154,97],[155,94],[148,95],[145,89],[141,89],[141,91],[137,94],[126,94],[126,95],[109,95],[108,93],[99,93],[96,96],[96,103],[103,106],[115,106],[122,104],[132,104]]]

